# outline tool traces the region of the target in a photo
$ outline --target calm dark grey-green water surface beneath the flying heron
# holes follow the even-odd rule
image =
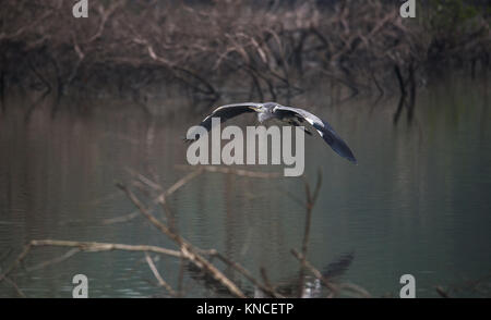
[[[322,139],[306,136],[307,180],[313,186],[318,170],[323,174],[309,260],[322,269],[352,255],[342,280],[373,296],[398,296],[406,273],[416,278],[419,297],[435,297],[436,285],[489,276],[490,91],[481,81],[430,84],[419,91],[414,121],[408,124],[403,114],[397,125],[397,99],[330,103],[328,95],[319,91],[295,98],[294,106],[314,106],[308,109],[331,122],[359,162],[352,165]],[[108,223],[134,211],[115,184],[131,185],[131,173],[139,172],[167,188],[185,175],[176,168],[187,163],[181,138],[206,108],[192,113],[189,102],[163,100],[161,110],[181,109],[189,115],[153,110],[159,115],[149,116],[128,101],[65,98],[53,113],[52,99],[34,100],[10,99],[0,114],[1,268],[31,239],[175,248],[143,217]],[[277,165],[246,169],[283,172]],[[295,279],[299,269],[290,249],[301,248],[303,199],[301,179],[204,173],[169,201],[179,231],[191,243],[216,248],[258,278],[264,267],[278,283]],[[164,218],[158,208],[155,214]],[[68,250],[35,248],[25,266]],[[155,263],[176,287],[179,260],[161,257]],[[11,279],[28,297],[71,297],[72,278],[79,273],[88,276],[89,297],[166,296],[140,253],[80,253],[32,272],[21,268]],[[191,275],[184,272],[187,297],[215,296]],[[16,296],[12,286],[0,283],[0,297],[11,296]]]

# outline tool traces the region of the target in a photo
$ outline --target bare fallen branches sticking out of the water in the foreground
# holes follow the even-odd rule
[[[20,296],[24,296],[22,288],[20,288],[15,282],[11,279],[12,276],[19,276],[15,273],[17,269],[24,270],[24,272],[31,273],[33,271],[49,268],[52,264],[61,263],[67,259],[71,258],[75,254],[81,251],[85,253],[100,253],[100,251],[111,251],[111,250],[121,250],[121,251],[139,251],[144,255],[144,261],[147,263],[148,268],[152,271],[152,274],[157,280],[157,285],[166,290],[169,296],[173,297],[182,297],[185,293],[182,290],[182,276],[179,276],[178,288],[173,288],[169,282],[167,282],[161,275],[159,268],[154,262],[154,259],[149,254],[159,255],[169,258],[180,259],[182,266],[187,266],[190,270],[199,271],[201,276],[197,276],[196,280],[205,279],[208,285],[212,285],[214,290],[224,288],[227,295],[233,297],[259,297],[259,296],[267,296],[267,297],[277,297],[283,298],[286,296],[309,296],[308,283],[306,283],[306,273],[310,273],[313,275],[316,281],[319,281],[319,292],[316,295],[322,295],[321,287],[327,291],[324,293],[325,296],[334,297],[342,294],[352,295],[352,296],[361,296],[361,297],[370,297],[370,294],[358,287],[354,284],[349,283],[339,283],[335,281],[333,278],[337,273],[343,273],[344,270],[351,262],[352,256],[343,257],[342,260],[336,261],[335,263],[330,264],[326,272],[319,271],[312,263],[307,259],[308,251],[308,238],[310,233],[310,224],[311,224],[311,216],[313,205],[316,198],[316,195],[321,187],[321,175],[319,175],[318,184],[313,194],[310,192],[310,185],[306,181],[306,192],[307,192],[307,202],[304,204],[307,210],[307,219],[306,219],[306,231],[303,236],[303,243],[301,248],[301,254],[295,249],[291,249],[291,254],[299,259],[301,266],[301,272],[299,275],[299,280],[296,280],[296,286],[299,291],[294,290],[292,292],[288,292],[284,288],[277,287],[272,284],[268,280],[267,272],[265,268],[261,269],[262,281],[256,279],[249,270],[242,267],[240,263],[230,260],[226,256],[218,253],[216,249],[201,249],[185,239],[177,230],[175,225],[175,217],[171,208],[166,200],[167,197],[171,196],[178,188],[184,186],[187,183],[191,182],[193,179],[203,174],[204,172],[220,172],[223,174],[232,174],[239,176],[247,176],[248,179],[271,179],[271,176],[265,175],[265,173],[246,171],[246,170],[235,170],[227,169],[227,171],[220,170],[209,170],[212,167],[203,167],[196,170],[191,170],[190,173],[184,175],[182,179],[178,180],[172,186],[168,189],[164,190],[158,184],[151,182],[145,176],[134,173],[134,183],[133,185],[140,185],[140,187],[146,186],[148,188],[148,193],[157,193],[157,196],[154,197],[152,204],[145,205],[144,201],[141,200],[140,197],[136,196],[134,190],[132,190],[129,186],[123,184],[118,184],[118,187],[123,190],[123,193],[128,196],[128,198],[133,202],[136,207],[140,216],[143,216],[154,227],[156,227],[163,235],[168,237],[177,246],[177,249],[164,248],[160,246],[154,245],[129,245],[129,244],[116,244],[116,243],[98,243],[98,242],[76,242],[76,241],[57,241],[57,239],[33,239],[29,241],[23,248],[23,250],[17,255],[17,257],[2,270],[0,273],[0,282],[4,281],[15,288]],[[219,168],[218,168],[219,169]],[[158,204],[161,207],[161,210],[165,212],[165,221],[157,219],[156,216],[152,212],[149,208],[153,207],[154,204]],[[26,258],[31,254],[32,249],[35,247],[46,247],[46,246],[56,246],[56,247],[67,247],[69,250],[53,259],[43,261],[37,263],[36,266],[26,266]],[[219,264],[215,261],[225,264],[227,268],[233,270],[241,276],[243,276],[247,281],[251,283],[254,287],[254,293],[244,287],[237,280],[231,280],[230,276],[227,276],[219,268]],[[298,283],[297,283],[298,282]]]

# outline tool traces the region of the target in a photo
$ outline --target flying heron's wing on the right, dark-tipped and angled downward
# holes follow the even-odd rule
[[[326,141],[336,153],[357,163],[357,159],[355,159],[355,156],[348,145],[338,136],[338,134],[326,121],[323,121],[315,114],[299,108],[277,106],[275,107],[274,112],[280,116],[297,116],[307,120],[307,122],[309,122],[318,131],[324,141]]]

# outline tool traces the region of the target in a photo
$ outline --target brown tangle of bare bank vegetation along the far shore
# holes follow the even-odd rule
[[[87,19],[72,2],[3,1],[2,97],[177,88],[200,101],[276,100],[322,84],[414,100],[446,70],[490,70],[488,1],[418,1],[415,19],[399,1],[88,1]]]

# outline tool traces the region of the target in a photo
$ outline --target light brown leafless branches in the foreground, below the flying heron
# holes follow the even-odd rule
[[[147,180],[143,175],[136,174],[136,176],[145,183],[145,185],[154,190],[158,192],[158,197],[153,199],[153,202],[151,206],[153,206],[155,202],[159,201],[163,205],[167,205],[166,198],[173,194],[176,190],[184,186],[189,181],[193,180],[195,176],[199,176],[204,171],[211,171],[211,172],[221,172],[221,173],[229,173],[229,174],[238,174],[243,176],[254,176],[254,177],[270,177],[272,174],[268,173],[261,173],[261,172],[253,172],[253,171],[246,171],[246,170],[235,170],[229,168],[217,168],[217,167],[200,167],[196,170],[193,170],[189,172],[187,175],[178,180],[175,184],[172,184],[168,189],[165,192],[163,187],[157,185],[156,183]],[[157,227],[161,233],[164,233],[166,236],[168,236],[176,245],[179,247],[179,250],[172,250],[167,249],[158,246],[149,246],[149,245],[125,245],[125,244],[111,244],[111,243],[96,243],[96,242],[74,242],[74,241],[55,241],[55,239],[35,239],[31,241],[24,246],[24,249],[22,253],[14,259],[14,261],[3,270],[3,273],[0,274],[0,282],[5,281],[9,284],[11,284],[16,291],[20,296],[23,296],[22,291],[16,287],[15,283],[13,283],[9,279],[9,274],[12,273],[14,270],[21,266],[29,251],[33,247],[40,247],[40,246],[56,246],[56,247],[71,247],[69,251],[64,253],[63,255],[46,260],[44,262],[40,262],[34,267],[26,268],[25,270],[27,272],[32,272],[35,270],[39,270],[43,268],[46,268],[48,266],[62,262],[70,257],[74,256],[75,254],[80,251],[88,251],[88,253],[98,253],[98,251],[109,251],[109,250],[125,250],[125,251],[140,251],[145,254],[145,261],[148,264],[148,268],[151,269],[153,275],[158,282],[158,285],[166,288],[170,296],[173,297],[181,297],[184,294],[184,288],[182,285],[183,282],[183,272],[184,272],[184,266],[185,263],[190,262],[191,267],[197,268],[203,274],[206,276],[213,278],[215,281],[217,281],[221,286],[224,286],[231,296],[235,297],[246,297],[244,293],[241,291],[238,284],[232,282],[229,278],[227,278],[219,269],[217,269],[214,264],[212,264],[211,260],[213,258],[217,258],[223,263],[227,264],[235,271],[239,272],[241,275],[243,275],[249,282],[251,282],[255,288],[260,290],[262,293],[270,297],[276,297],[276,298],[284,298],[285,296],[280,294],[274,284],[271,283],[265,269],[261,268],[261,275],[263,281],[255,279],[246,268],[243,268],[238,262],[231,261],[230,259],[226,258],[221,254],[219,254],[215,249],[200,249],[195,246],[193,246],[191,243],[189,243],[185,238],[183,238],[179,233],[177,233],[176,229],[172,227],[173,224],[171,224],[171,219],[168,218],[168,223],[164,223],[157,218],[155,218],[148,208],[144,206],[144,204],[136,197],[136,195],[130,190],[127,186],[119,184],[118,187],[124,192],[124,194],[128,196],[128,198],[133,202],[133,205],[137,208],[136,214],[142,214],[155,227]],[[315,186],[315,189],[313,193],[311,193],[310,186],[308,183],[306,183],[306,194],[307,194],[307,210],[308,216],[310,216],[313,208],[313,205],[319,196],[319,190],[321,188],[321,175],[319,173],[318,183]],[[165,210],[169,209],[164,207]],[[170,213],[169,213],[170,214]],[[310,224],[310,218],[308,219],[308,224]],[[303,239],[303,246],[302,250],[307,254],[307,246],[308,246],[308,237],[309,237],[309,230],[306,229],[304,239]],[[154,259],[148,255],[148,253],[154,253],[157,255],[165,255],[170,257],[179,258],[180,263],[180,270],[179,270],[179,276],[177,279],[178,287],[177,290],[173,290],[161,276],[159,273],[157,267],[155,266]],[[351,284],[336,284],[328,282],[325,276],[322,275],[321,272],[319,272],[315,268],[313,268],[309,261],[306,259],[304,254],[299,254],[295,250],[292,250],[292,254],[301,261],[302,269],[308,269],[316,278],[319,278],[324,285],[331,290],[331,294],[334,295],[342,288],[349,292],[355,292],[356,294],[360,296],[369,296],[368,293],[366,293],[362,288],[357,287],[356,285]],[[205,258],[206,257],[206,258]],[[209,260],[208,260],[209,259]]]

